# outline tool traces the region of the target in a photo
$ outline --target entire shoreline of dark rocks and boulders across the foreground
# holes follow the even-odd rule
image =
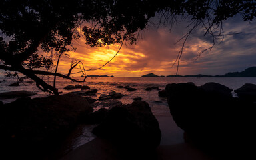
[[[231,89],[218,83],[173,83],[158,93],[159,97],[167,97],[170,113],[183,129],[185,142],[215,159],[224,159],[234,151],[234,156],[251,153],[248,146],[255,142],[255,86],[245,84],[236,89],[239,97],[233,97]],[[155,149],[160,144],[161,131],[147,102],[135,97],[133,103],[123,105],[119,99],[126,95],[115,91],[93,99],[91,95],[97,89],[77,87],[81,91],[35,99],[23,97],[1,104],[3,154],[13,156],[10,159],[17,155],[56,159],[55,149],[77,125],[99,124],[93,133],[115,146],[121,156],[132,158],[139,153],[141,158],[157,159]],[[129,86],[117,88],[134,91]],[[147,87],[145,91],[152,89],[160,90]],[[93,107],[99,110],[93,112]]]

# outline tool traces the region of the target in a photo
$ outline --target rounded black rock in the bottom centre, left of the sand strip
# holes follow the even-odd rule
[[[145,101],[113,107],[107,118],[93,129],[99,137],[109,139],[125,155],[151,153],[161,141],[159,123]]]

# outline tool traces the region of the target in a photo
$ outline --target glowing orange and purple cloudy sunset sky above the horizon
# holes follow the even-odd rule
[[[121,51],[103,69],[87,71],[87,75],[114,75],[115,77],[140,77],[147,73],[156,75],[173,75],[177,65],[173,65],[183,41],[176,43],[189,28],[187,21],[174,26],[171,31],[167,27],[153,27],[145,29],[142,38],[135,45],[123,44]],[[181,61],[179,75],[223,75],[231,71],[243,71],[247,67],[256,66],[256,23],[244,22],[239,16],[228,19],[223,23],[227,35],[222,43],[215,43],[209,52],[198,54],[211,47],[211,37],[203,36],[202,29],[194,31],[187,40]],[[176,43],[176,44],[175,44]],[[74,42],[77,51],[70,52],[70,57],[62,57],[59,65],[60,73],[67,73],[71,59],[81,59],[85,69],[101,67],[109,61],[119,49],[120,44],[91,48],[85,45],[81,37]],[[79,66],[73,72],[80,71]],[[76,74],[74,76],[79,76]]]

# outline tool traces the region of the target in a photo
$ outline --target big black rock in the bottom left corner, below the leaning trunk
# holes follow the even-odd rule
[[[75,94],[7,103],[1,107],[1,152],[9,159],[43,159],[92,111],[86,99]]]

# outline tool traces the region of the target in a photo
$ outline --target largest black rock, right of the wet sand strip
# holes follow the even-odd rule
[[[167,85],[171,115],[185,131],[185,141],[223,159],[247,156],[253,151],[250,144],[256,143],[255,105],[229,96],[222,91],[230,90],[225,87],[217,91],[218,87]]]

